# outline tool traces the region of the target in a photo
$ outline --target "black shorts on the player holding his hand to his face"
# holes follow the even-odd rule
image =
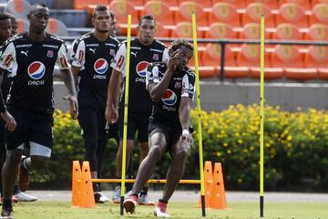
[[[157,132],[164,134],[168,143],[168,150],[170,150],[170,148],[179,141],[179,138],[182,134],[182,130],[179,128],[149,122],[149,138]]]

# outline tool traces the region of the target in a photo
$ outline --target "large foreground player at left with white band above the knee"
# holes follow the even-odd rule
[[[12,84],[6,101],[0,92],[0,112],[5,120],[6,161],[3,167],[4,202],[1,218],[14,218],[11,196],[24,144],[30,145],[31,159],[24,160],[20,172],[42,169],[49,160],[53,144],[53,73],[61,69],[69,95],[70,113],[77,118],[74,80],[67,64],[64,41],[46,33],[49,10],[46,5],[30,7],[29,30],[9,39],[0,57],[0,74],[12,68]],[[17,123],[15,122],[17,121]]]

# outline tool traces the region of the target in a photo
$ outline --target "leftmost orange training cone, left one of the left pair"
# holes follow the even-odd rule
[[[72,170],[72,204],[79,206],[81,204],[81,167],[78,161],[73,162]]]

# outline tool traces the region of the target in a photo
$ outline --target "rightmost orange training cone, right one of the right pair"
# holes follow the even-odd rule
[[[214,165],[213,183],[210,195],[210,207],[216,209],[224,209],[227,207],[223,183],[223,172],[220,162],[216,162]]]

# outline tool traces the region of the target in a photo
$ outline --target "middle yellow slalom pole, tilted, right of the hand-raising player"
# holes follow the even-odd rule
[[[192,38],[194,47],[194,59],[195,59],[195,72],[196,72],[196,97],[197,97],[197,113],[198,113],[198,134],[199,134],[199,153],[200,153],[200,197],[201,197],[201,215],[206,216],[205,211],[205,188],[204,188],[204,167],[203,167],[203,155],[202,155],[202,137],[201,137],[201,109],[200,109],[200,73],[199,73],[199,61],[197,50],[197,31],[196,31],[196,15],[193,12],[192,18]]]

